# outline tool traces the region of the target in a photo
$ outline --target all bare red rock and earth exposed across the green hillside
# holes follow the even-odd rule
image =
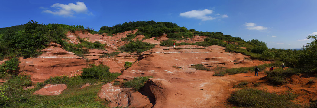
[[[205,107],[226,107],[224,102],[228,96],[236,89],[233,85],[242,82],[263,83],[262,88],[268,89],[269,92],[283,93],[294,90],[300,94],[297,98],[300,102],[308,103],[308,97],[316,99],[316,84],[307,84],[312,79],[305,76],[293,76],[290,78],[290,84],[282,86],[272,86],[265,84],[262,77],[265,74],[260,72],[259,77],[253,76],[252,72],[228,75],[223,77],[213,76],[213,71],[196,70],[191,65],[201,64],[208,68],[227,67],[249,67],[270,63],[268,61],[252,60],[249,56],[236,53],[225,52],[224,47],[217,45],[202,47],[196,45],[184,45],[174,47],[159,46],[161,41],[168,39],[166,34],[154,39],[145,39],[143,42],[157,44],[156,47],[144,53],[128,54],[120,53],[117,56],[103,57],[100,55],[117,52],[117,48],[126,44],[121,41],[122,37],[126,37],[134,31],[126,31],[122,33],[98,35],[87,32],[75,31],[68,32],[66,36],[68,42],[80,43],[79,38],[88,42],[100,42],[106,44],[105,50],[87,49],[88,54],[79,57],[74,53],[68,52],[61,45],[50,43],[47,48],[43,49],[40,56],[36,58],[28,58],[20,60],[20,72],[31,75],[33,82],[42,82],[52,76],[69,77],[80,75],[81,70],[89,66],[89,64],[104,64],[110,67],[110,72],[122,72],[116,81],[125,82],[132,80],[134,77],[152,76],[144,88],[135,92],[131,88],[123,88],[114,86],[113,83],[103,85],[98,96],[101,99],[110,101],[111,107],[135,107],[135,108],[205,108]],[[138,35],[133,40],[142,39],[144,36]],[[180,42],[195,43],[204,41],[205,36],[194,36],[191,39],[179,40]],[[4,62],[5,60],[1,61]],[[134,62],[133,65],[122,71],[124,62]],[[5,82],[1,81],[0,83]],[[85,85],[89,86],[89,84]],[[60,93],[61,89],[54,91],[48,90],[52,85],[37,91],[35,94],[55,95],[52,93]],[[55,87],[55,86],[54,86]],[[84,87],[84,86],[83,86]],[[66,85],[59,87],[66,88]],[[260,88],[260,87],[258,87]],[[47,92],[47,93],[43,93]],[[96,94],[97,95],[97,94]]]

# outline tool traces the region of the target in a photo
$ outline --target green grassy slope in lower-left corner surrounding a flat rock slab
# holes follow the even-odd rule
[[[99,65],[100,66],[100,65]],[[91,69],[107,71],[104,68],[94,66]],[[101,65],[101,67],[105,67]],[[108,70],[109,71],[109,70]],[[94,72],[93,72],[94,73]],[[92,74],[93,74],[92,73]],[[98,78],[76,77],[50,77],[44,82],[36,84],[36,88],[23,90],[23,87],[32,85],[30,76],[18,75],[10,78],[7,82],[0,86],[0,107],[12,108],[52,108],[52,107],[87,107],[87,108],[104,108],[108,107],[105,99],[100,99],[96,94],[100,92],[103,84],[91,85],[89,87],[79,89],[86,83],[108,82],[113,81],[121,73],[103,73]],[[46,84],[66,84],[67,88],[62,94],[55,96],[34,95],[35,90],[43,88]],[[3,89],[4,88],[4,89]]]

